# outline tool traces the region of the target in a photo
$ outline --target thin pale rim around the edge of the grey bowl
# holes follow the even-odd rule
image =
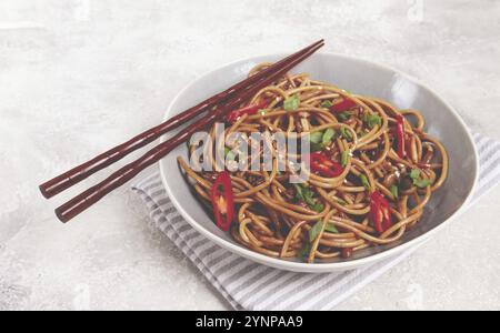
[[[183,95],[183,93],[189,90],[192,85],[194,85],[198,81],[203,80],[206,77],[213,74],[214,72],[218,72],[220,70],[227,69],[227,68],[231,68],[234,67],[239,63],[244,63],[244,62],[250,62],[253,61],[254,59],[258,58],[270,58],[270,59],[274,59],[278,57],[286,57],[289,53],[286,52],[277,52],[277,53],[269,53],[269,54],[261,54],[261,56],[253,56],[253,57],[246,57],[246,58],[241,58],[228,63],[224,63],[222,65],[219,65],[218,68],[207,71],[203,74],[197,77],[194,80],[191,80],[184,88],[182,88],[177,94],[176,97],[171,100],[171,102],[169,103],[169,107],[167,108],[167,111],[164,113],[163,117],[163,121],[167,120],[169,117],[172,117],[171,112],[172,112],[172,108],[173,105],[178,102],[178,100],[181,98],[181,95]],[[363,256],[360,259],[353,259],[353,260],[349,260],[349,261],[343,261],[343,262],[332,262],[332,263],[304,263],[304,262],[294,262],[294,261],[287,261],[287,260],[282,260],[279,258],[272,258],[272,256],[268,256],[258,252],[254,252],[250,249],[247,249],[240,244],[237,243],[232,243],[230,241],[227,241],[222,238],[219,238],[216,234],[212,234],[210,231],[208,231],[207,229],[204,229],[200,223],[198,223],[194,219],[192,219],[189,213],[183,209],[183,206],[181,205],[181,203],[179,202],[179,200],[172,194],[169,185],[168,185],[168,181],[167,181],[167,174],[164,173],[164,170],[167,168],[164,168],[164,159],[161,159],[159,161],[159,169],[160,169],[160,175],[161,175],[161,181],[163,184],[163,188],[167,192],[167,195],[169,196],[170,201],[172,202],[172,204],[174,205],[174,208],[179,211],[179,213],[181,214],[181,216],[192,226],[198,232],[200,232],[203,236],[206,236],[207,239],[211,240],[212,242],[214,242],[216,244],[218,244],[221,248],[224,248],[226,250],[230,251],[231,253],[234,253],[237,255],[241,255],[244,256],[247,259],[250,259],[254,262],[259,262],[262,264],[266,264],[268,266],[272,266],[272,268],[277,268],[277,269],[281,269],[281,270],[287,270],[287,271],[296,271],[296,272],[309,272],[309,273],[324,273],[324,272],[334,272],[334,271],[347,271],[347,270],[352,270],[356,269],[358,266],[362,266],[362,265],[367,265],[370,263],[374,263],[378,261],[381,261],[383,259],[390,258],[390,256],[394,256],[398,253],[401,253],[402,251],[410,249],[411,246],[417,246],[418,244],[421,244],[422,242],[424,242],[426,240],[428,240],[430,236],[434,235],[438,231],[440,231],[442,228],[444,228],[446,225],[448,225],[451,221],[453,221],[456,218],[458,218],[459,215],[461,215],[466,208],[468,206],[468,204],[470,203],[471,199],[472,199],[472,193],[476,190],[476,186],[478,184],[478,178],[479,178],[479,154],[478,154],[478,150],[477,147],[474,144],[472,134],[469,130],[469,128],[467,127],[466,122],[463,121],[463,119],[460,117],[460,114],[457,112],[457,110],[450,104],[448,103],[443,98],[440,97],[440,94],[438,94],[436,92],[436,90],[429,88],[429,85],[422,83],[419,79],[404,73],[398,69],[394,69],[392,67],[386,65],[386,64],[380,64],[377,62],[372,62],[362,58],[358,58],[358,57],[352,57],[352,56],[348,56],[348,54],[342,54],[342,53],[336,53],[336,52],[318,52],[316,54],[313,54],[311,57],[311,59],[313,59],[317,56],[327,56],[327,57],[334,57],[334,58],[343,58],[346,60],[354,60],[358,62],[363,62],[368,65],[371,67],[376,67],[379,68],[381,70],[386,70],[386,71],[390,71],[393,72],[394,74],[401,75],[406,80],[409,80],[410,82],[419,85],[420,88],[427,90],[428,93],[431,93],[437,100],[439,100],[441,103],[443,103],[443,105],[446,108],[448,108],[451,111],[451,114],[458,120],[458,122],[460,123],[460,125],[464,129],[464,132],[467,133],[467,139],[470,141],[471,145],[472,145],[472,151],[473,151],[473,162],[474,162],[474,174],[473,174],[473,183],[472,186],[469,190],[469,193],[467,193],[467,198],[466,200],[462,202],[462,204],[444,221],[442,221],[439,225],[434,226],[433,229],[427,231],[426,233],[410,240],[407,242],[403,242],[402,244],[399,244],[394,248],[391,248],[389,250],[384,250],[382,252],[378,252],[374,253],[372,255],[368,255],[368,256]],[[162,135],[160,139],[160,142],[164,142],[167,140],[166,135]]]

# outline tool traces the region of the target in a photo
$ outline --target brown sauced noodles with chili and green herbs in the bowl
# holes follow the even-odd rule
[[[249,75],[267,65],[259,64]],[[290,99],[298,103],[286,110]],[[398,110],[307,73],[284,75],[247,105],[262,101],[267,104],[263,110],[242,114],[224,134],[310,134],[311,151],[326,163],[320,167],[341,169],[334,175],[311,169],[302,184],[291,184],[292,171],[279,172],[276,163],[272,171],[231,172],[234,218],[229,232],[253,251],[314,262],[393,243],[419,222],[432,193],[447,178],[447,151],[424,132],[418,110]],[[213,128],[209,133],[214,139]],[[212,142],[209,155],[216,150],[216,140]],[[217,172],[196,172],[178,160],[199,199],[210,204]]]

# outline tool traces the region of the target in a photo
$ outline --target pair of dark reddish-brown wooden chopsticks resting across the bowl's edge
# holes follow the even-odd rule
[[[143,145],[157,140],[167,132],[177,129],[182,123],[198,117],[202,113],[199,120],[194,121],[183,131],[180,131],[169,140],[158,144],[149,150],[146,154],[136,161],[124,165],[100,183],[91,186],[87,191],[78,194],[70,201],[56,209],[56,215],[62,222],[68,222],[77,216],[92,204],[101,200],[104,195],[114,189],[127,183],[146,168],[158,162],[177,145],[188,140],[193,133],[211,127],[216,121],[221,120],[227,113],[238,109],[241,103],[252,98],[259,90],[269,85],[306,58],[314,53],[324,44],[323,40],[293,53],[272,65],[259,71],[257,74],[247,78],[246,80],[232,85],[226,91],[222,91],[201,103],[170,118],[161,124],[151,128],[129,141],[117,145],[107,152],[84,162],[40,185],[40,191],[47,199],[64,191],[66,189],[79,183],[91,174],[121,160],[132,151],[136,151]]]

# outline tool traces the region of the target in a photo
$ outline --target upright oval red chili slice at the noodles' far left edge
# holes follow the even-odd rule
[[[234,216],[234,194],[229,172],[219,173],[210,191],[216,224],[228,231]]]

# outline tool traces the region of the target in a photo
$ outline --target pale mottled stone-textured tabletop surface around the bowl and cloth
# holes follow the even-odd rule
[[[500,139],[500,1],[2,0],[0,310],[226,309],[123,186],[68,225],[37,185],[161,120],[228,61],[326,51],[406,71]],[[118,163],[113,169],[122,163]],[[339,309],[500,309],[500,188]]]

